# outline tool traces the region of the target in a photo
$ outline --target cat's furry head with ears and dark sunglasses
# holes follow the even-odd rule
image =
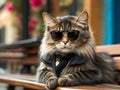
[[[79,16],[68,15],[56,18],[43,13],[43,21],[46,30],[41,44],[42,55],[54,52],[80,54],[86,52],[84,51],[86,46],[94,46],[86,10]]]

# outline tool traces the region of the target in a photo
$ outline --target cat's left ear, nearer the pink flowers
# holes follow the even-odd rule
[[[43,12],[43,21],[46,26],[53,26],[57,24],[57,19],[48,14],[47,12]]]

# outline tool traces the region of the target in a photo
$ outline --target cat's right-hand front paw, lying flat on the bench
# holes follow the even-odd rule
[[[67,75],[61,76],[58,79],[58,85],[59,86],[71,86],[74,82],[72,81],[72,79],[70,77],[68,77]]]

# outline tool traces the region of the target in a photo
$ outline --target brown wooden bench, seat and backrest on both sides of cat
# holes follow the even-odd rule
[[[23,56],[17,57],[17,58],[13,56],[9,56],[11,58],[0,56],[0,60],[2,57],[2,59],[5,59],[6,62],[14,61],[24,65],[33,65],[33,64],[37,65],[38,56],[36,55],[39,49],[40,40],[41,39],[24,40],[24,41],[16,42],[11,45],[0,45],[0,52],[24,53]],[[118,69],[118,71],[120,70],[120,45],[119,44],[97,46],[96,51],[109,53],[114,58],[116,68]],[[34,57],[34,58],[31,58],[31,57]],[[120,79],[118,81],[120,82]],[[30,89],[46,90],[44,84],[37,83],[35,81],[35,75],[30,75],[30,74],[28,75],[27,73],[26,74],[3,74],[3,75],[0,75],[0,82],[7,83],[14,86],[27,87]],[[57,87],[56,90],[69,90],[69,89],[70,90],[120,90],[120,86],[112,85],[112,84],[101,84],[101,85],[94,85],[94,86]]]

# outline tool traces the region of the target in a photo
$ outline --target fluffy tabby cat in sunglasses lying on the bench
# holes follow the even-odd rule
[[[95,52],[86,10],[78,17],[55,18],[43,13],[43,20],[46,30],[40,48],[38,82],[50,90],[57,86],[115,83],[112,63]]]

